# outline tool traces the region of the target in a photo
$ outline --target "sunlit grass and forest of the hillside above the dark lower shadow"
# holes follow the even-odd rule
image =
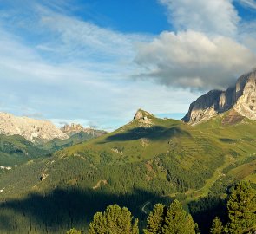
[[[126,197],[140,190],[158,198],[176,196],[189,202],[208,192],[223,192],[236,180],[255,181],[255,121],[244,119],[223,126],[223,118],[225,115],[220,115],[196,127],[178,120],[153,119],[152,127],[132,121],[114,133],[5,173],[0,180],[0,188],[5,188],[0,199],[70,187]],[[42,173],[47,178],[40,181]],[[104,183],[99,183],[101,180]],[[140,195],[135,203],[137,212],[154,195]],[[91,203],[94,199],[97,203],[95,195]]]

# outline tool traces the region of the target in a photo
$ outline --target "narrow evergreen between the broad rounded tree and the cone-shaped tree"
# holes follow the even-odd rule
[[[154,210],[148,215],[147,229],[144,229],[144,234],[161,234],[167,212],[166,210],[165,205],[154,205]]]

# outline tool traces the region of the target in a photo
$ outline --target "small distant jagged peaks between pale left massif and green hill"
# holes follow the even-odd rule
[[[83,133],[91,134],[95,137],[99,137],[99,136],[102,136],[103,134],[107,133],[106,131],[96,130],[96,129],[90,128],[90,127],[85,128],[85,127],[82,127],[81,124],[75,124],[75,123],[71,123],[70,125],[66,124],[64,127],[61,128],[61,130],[63,133],[66,133],[69,136],[72,136],[76,133],[83,132]]]

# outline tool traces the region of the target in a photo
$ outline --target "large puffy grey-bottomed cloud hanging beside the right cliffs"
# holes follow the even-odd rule
[[[224,36],[163,32],[153,42],[138,46],[135,62],[145,68],[139,78],[150,77],[172,87],[212,89],[226,88],[252,69],[256,55]]]

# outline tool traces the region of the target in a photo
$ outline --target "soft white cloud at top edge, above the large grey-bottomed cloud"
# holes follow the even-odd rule
[[[193,29],[210,34],[233,36],[240,21],[231,0],[159,0],[159,2],[167,6],[169,22],[178,30]]]

